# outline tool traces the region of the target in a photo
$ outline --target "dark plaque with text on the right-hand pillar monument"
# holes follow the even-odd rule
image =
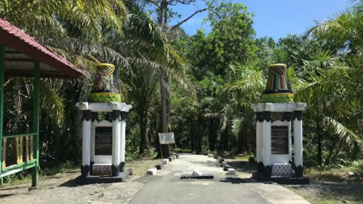
[[[271,154],[289,154],[289,126],[271,126]]]

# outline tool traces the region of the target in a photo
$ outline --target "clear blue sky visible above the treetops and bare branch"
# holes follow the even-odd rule
[[[343,11],[351,4],[348,0],[232,0],[233,3],[244,3],[248,12],[254,13],[253,27],[256,37],[270,36],[277,40],[288,33],[302,34],[314,25],[312,20],[324,20],[333,17],[334,13]],[[205,8],[201,0],[194,5],[178,4],[173,10],[181,15],[181,19],[194,13],[197,8]],[[181,27],[188,34],[194,34],[197,29],[204,28],[209,32],[209,25],[201,25],[207,12],[199,13],[185,22]],[[170,25],[180,21],[175,18]]]

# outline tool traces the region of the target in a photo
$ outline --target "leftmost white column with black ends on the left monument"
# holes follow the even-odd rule
[[[83,111],[82,123],[82,175],[90,175],[90,159],[91,159],[91,111]],[[88,168],[87,168],[88,167]]]

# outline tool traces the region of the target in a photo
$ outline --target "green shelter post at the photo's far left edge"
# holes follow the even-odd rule
[[[5,46],[0,43],[0,161],[2,161],[3,153],[3,117],[4,117],[4,70],[5,70]],[[1,162],[0,162],[1,174]],[[0,185],[3,179],[0,179]]]

